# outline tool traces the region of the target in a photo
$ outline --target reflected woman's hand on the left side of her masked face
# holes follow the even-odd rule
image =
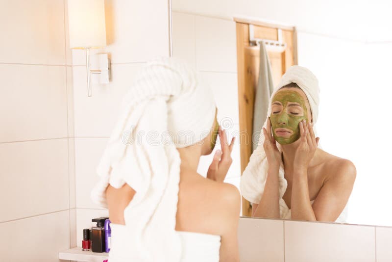
[[[267,129],[263,128],[263,133],[265,137],[263,147],[266,152],[268,166],[279,168],[282,156],[276,146],[275,138],[272,135],[270,117],[268,117],[267,120]]]

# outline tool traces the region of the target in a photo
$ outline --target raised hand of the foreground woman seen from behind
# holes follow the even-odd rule
[[[219,127],[218,134],[221,141],[221,150],[217,150],[215,152],[214,159],[212,159],[212,163],[207,171],[207,178],[217,182],[223,182],[227,171],[233,162],[230,154],[233,150],[235,137],[231,139],[231,143],[229,145],[227,142],[226,131]]]

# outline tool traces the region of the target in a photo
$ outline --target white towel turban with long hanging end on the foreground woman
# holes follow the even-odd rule
[[[107,208],[109,183],[115,188],[127,183],[136,191],[124,210],[126,253],[132,261],[179,261],[181,242],[174,230],[180,172],[176,148],[204,139],[215,110],[210,88],[173,58],[147,63],[124,97],[91,197]]]

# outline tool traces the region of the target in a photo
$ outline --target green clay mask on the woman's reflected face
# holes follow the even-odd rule
[[[277,92],[272,98],[271,105],[274,102],[280,102],[282,105],[279,106],[279,110],[271,110],[270,120],[273,137],[276,142],[281,145],[293,143],[301,136],[299,131],[299,122],[303,119],[308,121],[305,101],[302,96],[294,90],[282,90]],[[294,111],[298,110],[291,109],[290,106],[288,107],[288,102],[298,103],[303,108],[303,115],[295,115]],[[277,136],[275,133],[275,129],[277,128],[286,128],[293,132],[290,137]]]

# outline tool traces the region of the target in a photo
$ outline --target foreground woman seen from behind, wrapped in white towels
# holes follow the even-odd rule
[[[186,64],[161,58],[143,69],[122,111],[92,192],[112,222],[109,261],[239,261],[241,198],[222,183],[234,140],[219,128],[211,90]],[[218,133],[206,179],[197,164]]]

